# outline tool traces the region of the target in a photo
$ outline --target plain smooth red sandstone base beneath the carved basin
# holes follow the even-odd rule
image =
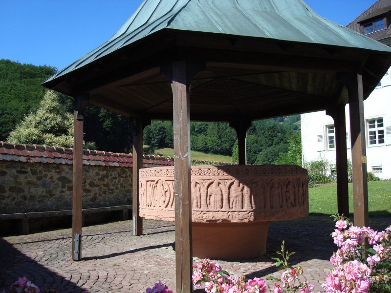
[[[193,256],[250,259],[266,252],[270,222],[192,223]]]

